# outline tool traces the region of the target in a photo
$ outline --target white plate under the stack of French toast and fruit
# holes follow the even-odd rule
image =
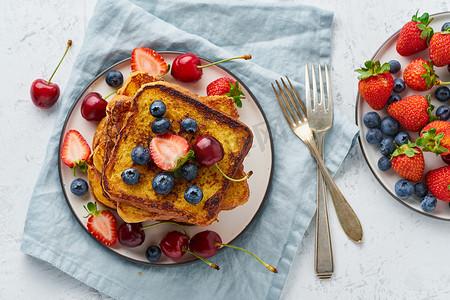
[[[161,56],[163,56],[167,64],[172,64],[172,61],[180,53],[160,52],[160,54]],[[202,59],[202,64],[207,63],[209,62]],[[119,62],[118,64],[106,69],[104,72],[98,75],[81,93],[80,97],[76,100],[74,106],[72,107],[71,111],[67,116],[65,127],[61,135],[60,146],[62,144],[64,135],[66,134],[67,131],[71,129],[78,130],[83,135],[83,137],[88,141],[89,145],[91,145],[92,138],[97,128],[98,122],[86,121],[81,116],[80,106],[82,99],[89,92],[98,92],[102,96],[105,96],[115,90],[105,83],[105,74],[110,69],[121,71],[124,76],[124,79],[126,79],[131,74],[130,60],[127,59],[125,61]],[[238,111],[240,114],[240,120],[250,127],[254,135],[253,146],[244,161],[244,169],[246,171],[253,170],[253,176],[250,177],[250,179],[248,180],[248,184],[250,187],[250,198],[246,204],[237,207],[234,210],[221,212],[219,214],[219,222],[215,222],[208,227],[186,226],[185,228],[187,229],[188,233],[191,236],[205,229],[213,230],[219,233],[224,243],[231,243],[250,225],[252,220],[257,215],[259,209],[263,204],[271,181],[273,146],[270,129],[266,121],[265,115],[261,107],[259,106],[257,100],[250,92],[250,90],[248,90],[245,84],[242,81],[240,81],[235,75],[231,74],[229,71],[225,70],[221,66],[216,65],[203,69],[203,77],[200,81],[196,83],[185,84],[178,82],[170,74],[167,74],[165,76],[165,80],[168,82],[173,82],[178,85],[181,85],[200,96],[206,96],[206,86],[208,85],[208,83],[224,76],[238,80],[242,91],[246,95],[246,98],[242,100],[243,101],[242,108],[238,108]],[[78,197],[71,193],[70,184],[75,178],[72,174],[72,170],[63,163],[61,163],[61,160],[59,160],[59,172],[62,189],[66,196],[67,203],[70,209],[72,210],[73,214],[81,224],[81,226],[87,232],[86,228],[87,220],[84,218],[84,216],[86,216],[87,213],[83,208],[83,205],[85,205],[89,201],[94,201],[94,198],[90,193],[88,193],[83,197]],[[83,172],[78,171],[77,175],[88,181],[87,175],[83,174]],[[99,208],[104,208],[100,204],[98,204],[98,206]],[[118,216],[116,219],[118,221],[119,226],[123,221]],[[152,222],[146,222],[144,223],[144,225],[151,223]],[[149,263],[148,260],[145,258],[144,254],[147,247],[150,245],[158,245],[160,240],[164,237],[164,235],[167,232],[177,229],[178,228],[176,226],[170,224],[158,225],[156,227],[147,229],[145,242],[141,246],[136,248],[127,248],[120,245],[118,242],[112,247],[107,247],[100,242],[99,244],[104,247],[107,247],[108,249],[117,253],[118,255],[131,259],[133,261],[141,263]],[[195,260],[195,258],[190,254],[186,254],[183,258],[176,261],[162,255],[160,261],[158,261],[156,264],[173,265],[193,260]]]

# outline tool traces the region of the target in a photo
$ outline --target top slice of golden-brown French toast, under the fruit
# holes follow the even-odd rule
[[[203,104],[200,98],[179,86],[162,81],[145,84],[133,100],[111,155],[105,158],[102,174],[104,192],[114,201],[147,212],[189,224],[209,225],[217,219],[229,185],[214,166],[200,168],[199,175],[191,183],[176,179],[174,190],[163,196],[151,188],[153,177],[161,170],[154,164],[142,167],[133,165],[131,161],[131,150],[137,145],[148,146],[153,136],[150,125],[154,118],[149,113],[149,106],[154,100],[165,102],[165,117],[171,121],[172,134],[188,137],[192,142],[200,135],[208,134],[222,143],[225,156],[218,164],[227,175],[236,175],[248,153],[253,136],[247,126]],[[186,117],[196,119],[199,124],[198,132],[193,136],[180,131],[180,123]],[[107,153],[108,149],[107,146]],[[140,181],[134,186],[126,185],[121,179],[122,171],[129,167],[135,167],[141,173]],[[184,190],[191,184],[201,187],[204,194],[202,202],[197,205],[189,204],[183,198]]]

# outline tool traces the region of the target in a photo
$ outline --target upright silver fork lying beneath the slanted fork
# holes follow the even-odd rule
[[[308,116],[308,123],[311,130],[314,132],[317,140],[317,148],[323,159],[323,142],[325,134],[333,124],[333,97],[331,95],[331,81],[328,73],[328,66],[324,64],[325,80],[327,86],[327,103],[325,103],[325,91],[322,79],[322,67],[319,64],[319,87],[320,87],[320,101],[317,96],[317,84],[315,67],[311,64],[312,74],[312,90],[314,107],[311,106],[311,101],[306,101],[306,112]],[[308,64],[305,65],[305,89],[306,98],[311,99],[309,89],[309,72]],[[328,104],[328,105],[327,105]],[[314,267],[316,274],[320,279],[330,279],[334,273],[333,264],[333,247],[331,244],[330,226],[328,223],[328,209],[327,209],[327,189],[323,181],[322,174],[317,172],[317,211],[316,211],[316,249],[314,252]]]

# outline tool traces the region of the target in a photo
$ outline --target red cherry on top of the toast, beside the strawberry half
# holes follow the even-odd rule
[[[203,135],[194,143],[195,160],[203,167],[221,161],[224,155],[222,144],[214,137]]]

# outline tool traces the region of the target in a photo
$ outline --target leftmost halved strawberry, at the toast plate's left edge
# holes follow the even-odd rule
[[[69,130],[64,136],[61,147],[62,162],[73,169],[73,176],[77,176],[76,168],[87,171],[87,159],[91,154],[91,148],[84,137],[76,130]]]

